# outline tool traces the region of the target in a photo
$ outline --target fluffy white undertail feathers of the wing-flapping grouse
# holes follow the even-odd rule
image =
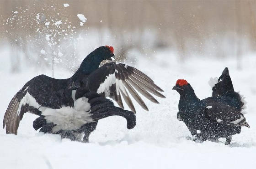
[[[74,108],[69,106],[59,109],[39,108],[47,123],[57,124],[53,127],[53,133],[57,133],[59,130],[75,130],[86,123],[93,122],[90,117],[90,109],[91,105],[86,97],[75,100]]]

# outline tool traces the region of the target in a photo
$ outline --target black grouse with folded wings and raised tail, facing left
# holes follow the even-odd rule
[[[234,91],[228,68],[214,85],[212,97],[198,99],[191,85],[183,79],[177,80],[173,90],[180,94],[177,118],[187,125],[197,142],[226,138],[225,144],[229,144],[232,135],[241,132],[241,126],[250,128],[241,113],[244,102]]]

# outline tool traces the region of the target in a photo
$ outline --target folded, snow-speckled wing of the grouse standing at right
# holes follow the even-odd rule
[[[249,124],[246,123],[244,115],[240,113],[237,108],[232,107],[224,102],[218,102],[217,99],[212,97],[208,97],[203,101],[206,102],[206,108],[208,108],[208,116],[218,123],[235,126],[246,126],[250,128]]]

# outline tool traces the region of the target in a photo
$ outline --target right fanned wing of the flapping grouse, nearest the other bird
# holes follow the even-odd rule
[[[99,67],[85,79],[84,83],[90,91],[95,91],[104,97],[114,99],[121,108],[123,108],[122,94],[124,101],[133,113],[136,111],[128,92],[133,96],[136,102],[147,111],[148,108],[137,91],[155,103],[159,102],[150,93],[165,98],[165,96],[160,93],[163,92],[163,90],[155,85],[151,78],[138,69],[122,63],[110,62]]]

